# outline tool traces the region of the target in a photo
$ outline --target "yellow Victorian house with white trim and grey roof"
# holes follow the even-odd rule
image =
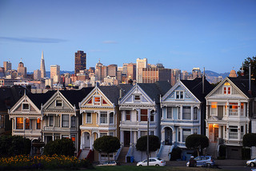
[[[96,86],[81,101],[80,149],[82,149],[82,153],[86,153],[83,154],[83,157],[86,157],[87,153],[94,149],[94,140],[98,137],[105,135],[120,137],[118,98],[127,89],[130,89],[130,85]],[[114,157],[114,154],[110,154],[110,157]],[[94,161],[102,161],[102,158],[106,158],[106,154],[99,155],[94,151]]]

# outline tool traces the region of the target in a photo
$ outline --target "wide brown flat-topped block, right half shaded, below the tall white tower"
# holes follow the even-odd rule
[[[143,68],[142,83],[154,83],[158,81],[171,81],[171,69],[165,68]]]

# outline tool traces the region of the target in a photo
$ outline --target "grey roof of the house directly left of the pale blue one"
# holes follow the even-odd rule
[[[164,95],[171,88],[170,83],[166,81],[138,83],[138,85],[156,103],[160,102],[160,95]]]

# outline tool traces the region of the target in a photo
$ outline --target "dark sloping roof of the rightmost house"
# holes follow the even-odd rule
[[[234,83],[242,91],[242,93],[245,93],[247,97],[256,97],[256,85],[251,82],[250,83],[250,90],[251,93],[249,93],[249,79],[245,77],[238,77],[238,78],[229,78],[231,82]]]

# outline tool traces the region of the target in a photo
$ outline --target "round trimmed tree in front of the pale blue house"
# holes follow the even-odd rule
[[[199,156],[199,149],[202,149],[209,146],[209,139],[205,135],[192,134],[186,137],[186,148],[196,149]]]

